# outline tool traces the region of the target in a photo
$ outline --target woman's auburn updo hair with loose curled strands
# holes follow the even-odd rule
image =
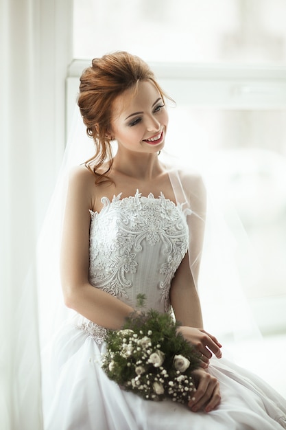
[[[95,183],[110,181],[106,177],[112,166],[111,116],[115,99],[128,89],[138,88],[139,82],[149,80],[158,89],[163,100],[167,95],[160,89],[154,73],[141,58],[128,52],[115,52],[94,58],[91,67],[80,77],[78,106],[86,133],[95,142],[95,155],[86,161],[86,167],[97,177]],[[108,161],[108,168],[99,174],[99,168]]]

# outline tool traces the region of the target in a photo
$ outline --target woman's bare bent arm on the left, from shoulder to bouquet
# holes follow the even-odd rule
[[[69,179],[62,231],[60,272],[64,302],[84,317],[106,328],[121,328],[133,309],[88,282],[89,227],[95,180],[85,168]]]

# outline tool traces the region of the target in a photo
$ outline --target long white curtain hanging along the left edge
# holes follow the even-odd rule
[[[0,2],[0,428],[42,429],[36,239],[64,148],[72,0]]]

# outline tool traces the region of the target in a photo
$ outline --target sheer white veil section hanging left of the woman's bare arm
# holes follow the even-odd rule
[[[38,240],[38,308],[42,348],[47,345],[64,321],[73,315],[73,311],[64,305],[60,284],[62,222],[69,171],[73,166],[84,163],[91,155],[93,155],[93,142],[86,136],[80,111],[76,106],[62,165]]]

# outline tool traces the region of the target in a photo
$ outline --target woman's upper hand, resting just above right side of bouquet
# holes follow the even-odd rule
[[[209,359],[213,354],[215,357],[220,359],[222,357],[221,343],[205,330],[201,328],[181,326],[178,328],[178,332],[182,334],[184,339],[189,341],[195,349],[201,354],[201,366],[207,367]],[[212,354],[213,352],[213,354]]]

